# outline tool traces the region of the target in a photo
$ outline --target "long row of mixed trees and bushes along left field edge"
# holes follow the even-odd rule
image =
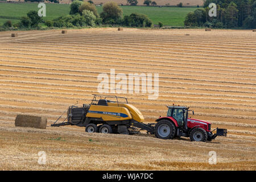
[[[122,9],[116,2],[107,2],[103,6],[102,13],[98,14],[96,6],[92,2],[75,0],[70,5],[69,15],[60,16],[53,20],[44,20],[38,16],[38,12],[31,10],[27,16],[20,18],[20,22],[12,24],[10,20],[2,26],[4,30],[14,28],[39,28],[40,23],[47,27],[93,27],[101,26],[127,26],[127,27],[151,27],[151,20],[144,14],[132,13],[123,16]],[[1,28],[1,27],[0,27]]]

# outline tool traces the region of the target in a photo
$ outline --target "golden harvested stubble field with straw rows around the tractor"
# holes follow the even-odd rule
[[[17,32],[15,38],[0,32],[0,169],[256,169],[253,31]],[[159,73],[157,100],[144,93],[118,94],[138,107],[146,122],[166,115],[164,105],[175,102],[190,106],[192,117],[212,122],[212,128],[228,129],[228,137],[195,143],[49,127],[69,105],[89,104],[98,93],[97,76],[112,68],[115,74]],[[45,115],[46,130],[15,127],[17,114]],[[39,151],[46,152],[46,165],[37,163]],[[216,165],[208,164],[209,151],[217,152]]]

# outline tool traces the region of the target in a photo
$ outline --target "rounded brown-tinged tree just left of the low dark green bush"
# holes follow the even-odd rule
[[[123,10],[117,5],[116,2],[107,2],[103,5],[103,11],[100,14],[103,22],[106,22],[107,20],[117,20],[122,18],[123,16]]]

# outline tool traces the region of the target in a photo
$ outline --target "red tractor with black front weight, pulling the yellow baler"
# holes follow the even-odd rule
[[[191,141],[206,142],[217,136],[225,136],[226,129],[216,129],[216,134],[211,131],[211,123],[199,119],[188,118],[189,107],[167,106],[166,117],[156,119],[154,133],[157,138],[173,139],[175,137],[189,137]],[[214,130],[213,130],[214,131]]]

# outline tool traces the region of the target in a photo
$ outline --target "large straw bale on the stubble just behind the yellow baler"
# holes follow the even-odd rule
[[[19,127],[34,127],[36,129],[46,129],[46,125],[46,117],[18,114],[15,118],[15,126]]]

